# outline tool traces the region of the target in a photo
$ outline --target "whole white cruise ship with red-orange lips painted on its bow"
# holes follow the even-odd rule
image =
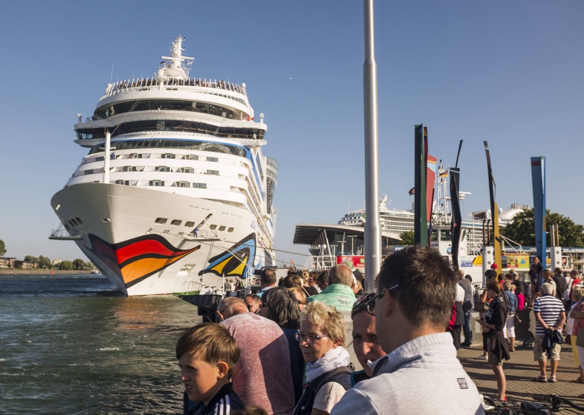
[[[274,262],[278,164],[245,84],[191,77],[185,38],[150,78],[107,84],[75,124],[88,150],[51,207],[128,296],[223,289]]]

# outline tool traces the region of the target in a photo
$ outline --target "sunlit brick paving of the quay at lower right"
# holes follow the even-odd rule
[[[519,344],[522,345],[523,342]],[[482,345],[475,344],[471,348],[460,348],[458,359],[477,385],[479,392],[494,397],[497,393],[495,374],[487,361],[475,359],[479,354],[482,354]],[[511,359],[503,363],[503,369],[507,379],[507,398],[509,401],[533,401],[531,395],[534,393],[557,393],[576,404],[584,405],[584,384],[570,382],[572,379],[578,378],[578,368],[576,368],[572,358],[572,348],[567,344],[562,345],[557,372],[558,382],[556,383],[533,382],[533,379],[539,376],[540,371],[537,362],[533,360],[532,349],[516,347],[516,351],[511,353]],[[547,375],[549,378],[549,362]]]

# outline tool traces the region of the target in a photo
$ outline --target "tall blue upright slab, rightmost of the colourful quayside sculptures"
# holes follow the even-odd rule
[[[537,257],[545,269],[545,157],[531,157],[533,186],[533,223],[536,230]]]

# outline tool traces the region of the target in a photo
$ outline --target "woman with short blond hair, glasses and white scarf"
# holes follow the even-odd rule
[[[296,337],[307,362],[307,384],[294,415],[328,415],[351,387],[345,317],[323,302],[308,303]]]

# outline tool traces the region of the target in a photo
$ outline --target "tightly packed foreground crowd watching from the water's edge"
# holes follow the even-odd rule
[[[448,333],[455,300],[471,296],[458,281],[437,250],[419,245],[385,259],[370,292],[346,265],[281,281],[263,269],[258,292],[224,298],[220,323],[180,337],[184,413],[482,414]],[[497,316],[485,319],[493,331],[505,325]]]

